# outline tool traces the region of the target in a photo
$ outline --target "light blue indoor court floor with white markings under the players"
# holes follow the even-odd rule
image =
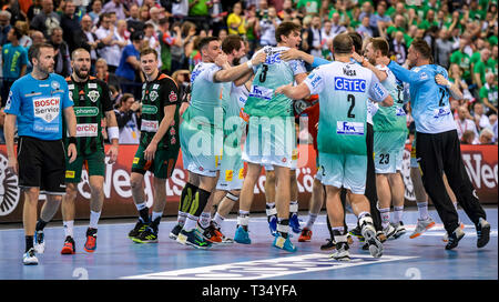
[[[60,221],[45,228],[45,252],[38,254],[39,265],[22,264],[24,236],[22,226],[0,225],[0,280],[497,280],[498,279],[498,211],[486,208],[492,225],[488,245],[476,248],[476,230],[462,210],[465,238],[452,251],[444,249],[444,229],[436,211],[430,215],[437,225],[417,239],[409,239],[417,212],[407,209],[404,222],[407,233],[385,242],[380,259],[374,259],[360,249],[355,239],[350,246],[352,261],[336,262],[332,251],[319,246],[328,238],[323,211],[314,224],[310,242],[292,241],[298,251],[288,253],[273,248],[264,214],[252,214],[249,235],[252,244],[216,245],[196,250],[169,239],[174,218],[164,218],[160,224],[160,242],[139,244],[128,238],[135,221],[101,220],[98,249],[83,251],[86,221],[74,228],[77,254],[61,255],[64,233]],[[307,219],[301,212],[302,225]],[[354,228],[356,219],[347,214],[347,224]],[[223,232],[233,238],[235,215],[225,221]]]

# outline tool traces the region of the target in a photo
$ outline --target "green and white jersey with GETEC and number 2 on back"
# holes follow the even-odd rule
[[[305,79],[320,102],[317,148],[319,153],[367,154],[367,102],[388,97],[376,76],[353,62],[320,66]]]

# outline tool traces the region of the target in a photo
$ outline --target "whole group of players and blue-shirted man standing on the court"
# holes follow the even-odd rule
[[[333,41],[335,60],[330,62],[297,50],[301,27],[293,22],[282,22],[275,36],[276,47],[264,47],[241,64],[246,54],[241,37],[228,36],[223,41],[203,38],[198,44],[202,62],[192,71],[189,103],[182,103],[175,81],[159,70],[155,50],[141,51],[145,76],[141,139],[130,180],[139,219],[128,234],[133,242],[159,241],[165,182],[182,152],[189,179],[177,223],[169,234],[180,244],[196,249],[251,244],[249,210],[264,168],[273,246],[295,252],[291,232],[299,233],[299,242],[310,241],[313,224],[326,202],[330,239],[322,249],[334,250],[332,258],[337,261],[348,261],[352,236],[356,236],[364,242],[363,249],[380,258],[383,243],[406,232],[400,170],[408,135],[405,104],[410,102],[416,122],[411,177],[419,194],[419,219],[410,238],[435,225],[428,215],[430,198],[447,232],[446,249],[458,245],[465,233],[447,193],[451,190],[476,225],[477,246],[488,243],[490,224],[462,164],[449,108],[449,95],[460,99],[462,94],[448,81],[447,71],[432,64],[425,41],[411,43],[408,70],[389,60],[383,38],[363,41],[358,34],[340,33]],[[9,169],[19,174],[19,187],[26,192],[24,264],[38,264],[37,253],[44,251],[43,229],[61,203],[65,233],[61,253],[75,253],[74,200],[83,167],[91,188],[83,249],[96,250],[105,158],[113,163],[119,155],[119,129],[109,88],[90,76],[89,52],[72,52],[73,72],[65,80],[53,73],[53,56],[50,44],[30,48],[33,72],[13,83],[6,105]],[[305,63],[315,69],[307,72]],[[303,113],[308,114],[317,151],[304,228],[297,214],[295,172],[295,120]],[[102,119],[112,142],[108,154]],[[143,189],[147,171],[154,175],[152,210],[146,207]],[[40,193],[47,194],[47,202],[37,221]],[[230,238],[222,231],[224,219],[237,201],[237,226]],[[345,222],[347,207],[357,217],[353,230]]]

